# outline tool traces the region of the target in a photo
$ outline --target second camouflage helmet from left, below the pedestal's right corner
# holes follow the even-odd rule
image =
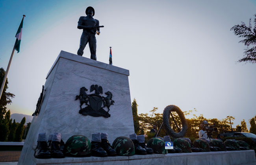
[[[125,136],[116,138],[112,146],[119,156],[132,156],[135,154],[134,143],[130,138]]]

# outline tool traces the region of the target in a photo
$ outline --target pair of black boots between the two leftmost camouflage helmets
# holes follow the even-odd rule
[[[108,142],[108,139],[101,139],[101,142],[91,142],[91,155],[98,157],[116,156],[117,152]]]

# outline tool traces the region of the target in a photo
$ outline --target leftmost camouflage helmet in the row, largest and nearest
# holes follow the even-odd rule
[[[91,154],[91,142],[83,135],[71,136],[64,147],[65,156],[83,157]]]

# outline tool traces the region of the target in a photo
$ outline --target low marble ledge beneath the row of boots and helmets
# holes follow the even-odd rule
[[[151,154],[114,157],[66,157],[62,159],[36,159],[35,165],[239,165],[256,163],[254,150],[193,152],[179,154]]]

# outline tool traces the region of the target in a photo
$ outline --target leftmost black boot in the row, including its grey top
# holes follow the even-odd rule
[[[51,153],[46,143],[46,133],[40,133],[37,139],[37,147],[34,153],[35,158],[44,159],[50,158]]]

